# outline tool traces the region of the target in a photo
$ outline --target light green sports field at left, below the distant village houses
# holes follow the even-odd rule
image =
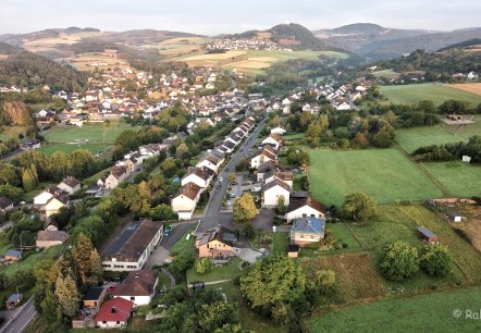
[[[125,122],[86,123],[83,127],[62,126],[54,127],[45,135],[50,143],[75,143],[87,139],[89,144],[113,144],[115,138],[124,131],[136,128]]]

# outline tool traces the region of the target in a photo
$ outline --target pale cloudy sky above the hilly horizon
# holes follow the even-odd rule
[[[89,26],[215,35],[286,22],[310,29],[369,22],[451,30],[481,26],[480,17],[474,0],[0,0],[0,34]]]

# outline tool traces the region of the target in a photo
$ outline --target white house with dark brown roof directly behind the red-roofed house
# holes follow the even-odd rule
[[[156,294],[159,273],[152,270],[130,272],[124,282],[112,292],[113,297],[121,297],[134,303],[134,306],[149,305]]]

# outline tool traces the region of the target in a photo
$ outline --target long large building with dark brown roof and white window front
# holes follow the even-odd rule
[[[161,223],[147,219],[130,223],[116,237],[110,239],[100,252],[103,270],[141,269],[159,243],[162,231]]]

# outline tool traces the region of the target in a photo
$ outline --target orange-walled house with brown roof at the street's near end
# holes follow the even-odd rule
[[[199,258],[229,259],[236,256],[235,232],[224,226],[205,231],[197,236],[196,249]]]

